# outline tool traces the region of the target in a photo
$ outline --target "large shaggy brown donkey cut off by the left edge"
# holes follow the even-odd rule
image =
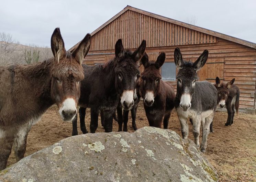
[[[51,105],[57,104],[64,121],[73,120],[77,113],[84,79],[81,62],[90,48],[90,34],[71,54],[56,28],[51,47],[54,58],[0,67],[0,170],[6,167],[12,146],[16,161],[24,157],[28,132]]]

